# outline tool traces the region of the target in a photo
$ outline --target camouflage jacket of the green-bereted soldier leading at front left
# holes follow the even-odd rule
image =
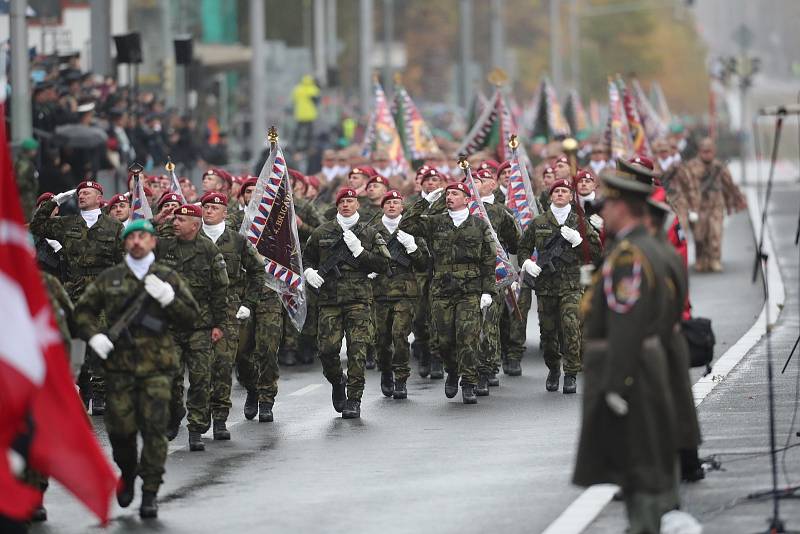
[[[143,316],[163,321],[164,331],[157,333],[141,324],[129,327],[114,342],[114,350],[105,361],[107,371],[133,373],[136,376],[172,373],[178,369],[178,356],[172,336],[167,326],[193,323],[200,310],[183,278],[169,267],[154,262],[148,274],[155,274],[168,282],[175,290],[175,300],[169,305],[161,305],[147,298]],[[103,271],[89,287],[75,306],[75,322],[81,338],[89,340],[100,333],[98,316],[103,313],[108,324],[113,325],[127,306],[144,293],[144,282],[136,278],[125,263]]]

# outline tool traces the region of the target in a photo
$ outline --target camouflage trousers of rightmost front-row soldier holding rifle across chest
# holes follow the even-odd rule
[[[536,297],[540,347],[548,369],[560,370],[563,361],[565,374],[576,374],[581,370],[580,301],[580,290]]]

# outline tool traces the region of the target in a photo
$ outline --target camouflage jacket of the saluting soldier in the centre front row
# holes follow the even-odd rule
[[[431,296],[447,298],[463,294],[494,293],[494,261],[497,255],[489,225],[470,215],[461,226],[453,224],[444,204],[427,200],[414,204],[400,221],[400,230],[422,237],[433,258]]]

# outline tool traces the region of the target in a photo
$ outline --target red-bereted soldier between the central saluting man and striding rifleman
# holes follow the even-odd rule
[[[370,274],[375,295],[375,346],[381,392],[386,397],[405,399],[408,396],[406,381],[411,373],[408,334],[419,299],[415,273],[428,272],[430,255],[423,239],[415,239],[397,229],[403,213],[400,193],[389,191],[382,204],[383,217],[375,227],[387,243],[392,260],[389,272]]]

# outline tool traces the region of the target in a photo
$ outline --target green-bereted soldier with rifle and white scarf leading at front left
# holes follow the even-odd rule
[[[192,322],[199,313],[189,287],[174,270],[155,261],[155,228],[140,219],[122,237],[128,254],[123,263],[103,271],[75,307],[83,339],[103,359],[108,383],[106,430],[114,461],[122,471],[117,501],[133,501],[136,475],[142,477],[143,518],[156,517],[156,493],[167,459],[167,421],[173,376],[178,358],[169,324]],[[128,306],[144,296],[141,319],[112,341],[103,333],[101,314],[114,324]],[[145,321],[147,319],[147,321]],[[113,353],[112,353],[113,351]],[[137,432],[142,453],[137,459]]]

